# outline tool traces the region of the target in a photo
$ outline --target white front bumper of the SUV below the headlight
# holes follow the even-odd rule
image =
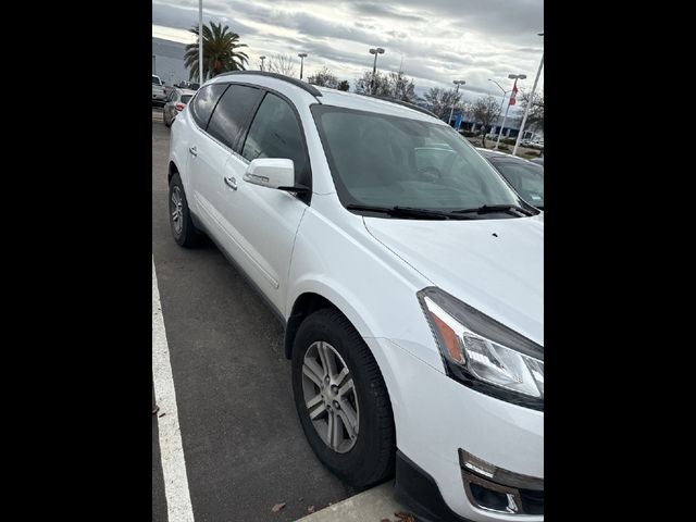
[[[434,522],[458,520],[453,515],[476,522],[543,521],[543,514],[499,512],[482,509],[472,502],[471,492],[464,488],[459,450],[504,470],[508,475],[534,477],[543,487],[544,412],[468,388],[447,376],[444,369],[435,369],[419,359],[418,347],[406,349],[400,346],[406,343],[397,344],[385,338],[368,338],[365,341],[389,390],[400,456],[432,480],[452,514],[438,519],[437,495],[423,495],[423,483],[414,488],[421,490],[419,495],[412,490],[409,494],[403,480],[399,485],[397,470],[397,490],[401,492],[401,497],[418,497],[415,504],[420,508],[412,506],[414,513],[419,515],[420,511],[423,520]]]

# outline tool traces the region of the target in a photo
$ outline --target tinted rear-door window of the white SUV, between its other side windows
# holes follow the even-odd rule
[[[237,138],[246,128],[261,96],[261,89],[244,85],[229,86],[210,119],[208,133],[238,152],[235,148]]]

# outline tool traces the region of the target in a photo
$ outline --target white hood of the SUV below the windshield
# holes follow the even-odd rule
[[[363,220],[374,238],[434,286],[544,345],[544,213],[502,220]]]

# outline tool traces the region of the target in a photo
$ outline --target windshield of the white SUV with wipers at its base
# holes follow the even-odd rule
[[[524,204],[447,125],[325,104],[311,110],[344,206],[450,212]]]

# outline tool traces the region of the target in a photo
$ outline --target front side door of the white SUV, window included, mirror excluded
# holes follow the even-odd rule
[[[300,120],[289,101],[265,92],[248,130],[225,165],[221,206],[239,264],[272,304],[285,312],[287,275],[295,235],[307,202],[291,192],[243,181],[251,160],[285,158],[295,164],[296,184],[311,187],[309,154]]]

